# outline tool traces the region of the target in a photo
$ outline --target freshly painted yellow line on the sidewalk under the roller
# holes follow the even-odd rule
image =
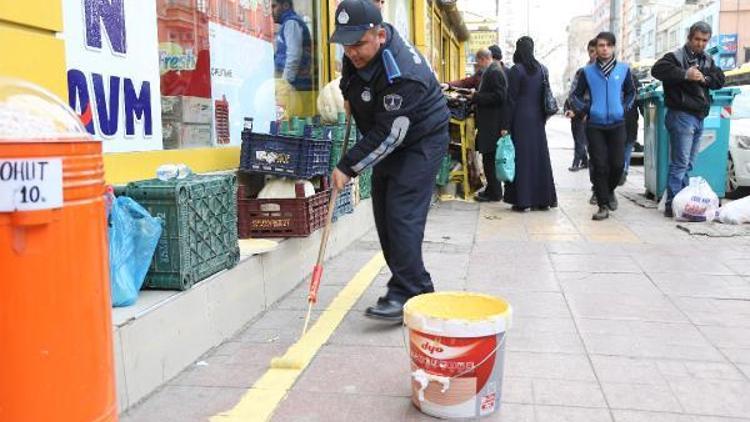
[[[276,407],[286,398],[297,378],[333,335],[352,306],[370,287],[384,265],[383,254],[375,255],[339,292],[307,334],[287,349],[283,359],[299,362],[299,369],[269,368],[233,409],[212,417],[211,422],[270,420]]]

